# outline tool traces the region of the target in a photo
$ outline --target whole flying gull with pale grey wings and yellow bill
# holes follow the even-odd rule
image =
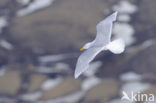
[[[104,50],[110,50],[114,54],[120,54],[124,51],[125,43],[119,38],[114,41],[110,41],[113,22],[116,20],[117,12],[108,16],[106,19],[102,20],[97,24],[97,35],[96,38],[89,43],[86,43],[80,51],[85,50],[78,58],[75,78],[78,78],[83,72],[89,68],[90,62],[95,58],[95,56]]]

